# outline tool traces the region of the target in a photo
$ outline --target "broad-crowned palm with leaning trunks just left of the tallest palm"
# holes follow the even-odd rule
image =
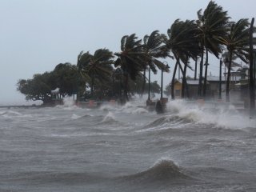
[[[163,36],[166,50],[172,51],[176,59],[173,78],[171,80],[171,98],[173,99],[174,80],[178,66],[182,70],[181,61],[184,63],[185,68],[182,70],[182,85],[186,86],[186,67],[189,66],[189,58],[195,60],[200,52],[197,34],[198,28],[193,20],[182,22],[177,19],[172,26],[170,26],[170,29],[167,30],[167,37],[165,35]]]

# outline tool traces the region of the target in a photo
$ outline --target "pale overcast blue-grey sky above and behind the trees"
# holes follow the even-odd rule
[[[217,0],[229,16],[255,17],[255,0]],[[27,104],[16,90],[20,78],[76,63],[81,50],[120,50],[123,35],[166,34],[175,19],[196,19],[203,0],[0,0],[0,105]],[[172,66],[174,61],[167,60]],[[218,75],[218,61],[210,72]],[[159,74],[154,79],[159,79]],[[164,75],[170,82],[171,74]]]

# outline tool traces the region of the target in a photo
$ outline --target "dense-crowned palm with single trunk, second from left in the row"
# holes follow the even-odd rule
[[[135,80],[146,66],[142,40],[138,40],[136,34],[123,36],[121,39],[121,52],[115,53],[115,55],[118,58],[114,66],[121,66],[124,76],[124,96],[126,101],[129,101],[128,79]]]

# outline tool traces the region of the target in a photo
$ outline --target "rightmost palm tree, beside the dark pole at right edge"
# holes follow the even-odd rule
[[[221,42],[226,46],[228,55],[228,72],[226,79],[226,102],[230,102],[230,70],[234,55],[243,62],[249,62],[249,28],[248,19],[242,18],[238,22],[230,22],[229,33],[221,38]]]

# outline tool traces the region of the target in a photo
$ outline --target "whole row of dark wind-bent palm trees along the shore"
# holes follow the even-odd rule
[[[174,81],[179,68],[182,72],[182,98],[186,98],[189,96],[186,86],[187,68],[193,70],[197,66],[192,67],[191,62],[197,63],[198,59],[201,59],[198,98],[204,98],[206,97],[209,53],[214,54],[216,58],[221,58],[222,53],[228,51],[226,101],[229,102],[232,59],[236,55],[243,62],[249,63],[249,39],[248,19],[242,18],[238,22],[231,22],[227,11],[222,10],[222,6],[218,6],[214,1],[210,1],[205,10],[198,10],[197,20],[177,19],[167,30],[167,34],[160,34],[158,30],[154,30],[150,35],[145,35],[143,39],[138,39],[136,34],[125,35],[121,39],[121,50],[114,54],[107,49],[96,50],[94,54],[81,52],[77,62],[78,77],[80,81],[90,82],[93,96],[94,83],[110,81],[114,73],[112,64],[115,67],[119,66],[124,79],[124,97],[128,100],[129,79],[135,80],[138,76],[142,76],[145,85],[146,70],[149,73],[153,71],[154,74],[157,70],[169,72],[169,67],[162,62],[162,59],[172,58],[175,60],[175,66],[171,80],[171,97],[174,99]],[[114,56],[117,58],[115,59]]]

